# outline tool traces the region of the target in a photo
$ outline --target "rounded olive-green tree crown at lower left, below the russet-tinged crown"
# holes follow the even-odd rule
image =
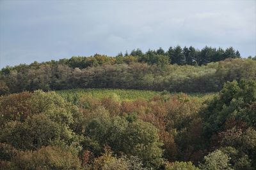
[[[25,122],[8,122],[1,132],[1,141],[22,150],[36,150],[48,146],[52,141],[69,141],[73,134],[70,129],[43,114],[33,115]]]

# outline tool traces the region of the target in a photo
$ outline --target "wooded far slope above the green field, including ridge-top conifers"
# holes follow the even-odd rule
[[[74,88],[218,92],[226,81],[255,79],[255,59],[240,59],[232,47],[195,50],[176,46],[167,52],[138,49],[116,57],[95,54],[33,62],[1,69],[0,94]]]

